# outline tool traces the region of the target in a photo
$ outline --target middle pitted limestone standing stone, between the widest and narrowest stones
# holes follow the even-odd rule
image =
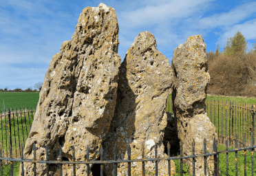
[[[127,51],[120,67],[116,110],[103,142],[104,159],[114,159],[118,146],[118,159],[127,159],[131,146],[131,159],[167,157],[163,137],[167,126],[166,100],[173,85],[169,59],[156,49],[156,39],[150,32],[140,32]],[[118,175],[127,175],[127,163],[118,164]],[[145,173],[155,171],[154,162],[145,162]],[[171,174],[175,164],[171,161]],[[105,175],[114,174],[114,164],[106,164]],[[142,175],[142,162],[131,163],[131,175]],[[168,175],[166,161],[158,162],[158,174]]]

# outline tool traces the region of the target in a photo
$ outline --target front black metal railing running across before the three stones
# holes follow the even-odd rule
[[[245,139],[246,140],[246,139]],[[252,140],[254,140],[252,138]],[[245,143],[244,143],[245,144]],[[226,140],[226,151],[217,151],[217,143],[215,140],[215,137],[213,139],[213,153],[206,153],[206,140],[204,139],[204,154],[198,154],[198,155],[194,155],[195,153],[195,142],[192,142],[192,152],[193,155],[187,155],[187,156],[182,156],[182,144],[180,144],[180,150],[181,150],[181,156],[180,157],[170,157],[170,144],[168,142],[167,148],[168,148],[168,157],[158,157],[158,153],[157,153],[157,145],[155,145],[155,158],[145,158],[143,156],[142,153],[142,159],[131,159],[131,147],[128,146],[127,148],[127,156],[128,159],[122,159],[122,160],[118,160],[117,159],[117,153],[118,153],[118,147],[115,146],[114,148],[114,160],[104,160],[104,155],[103,155],[103,148],[100,147],[100,161],[98,160],[89,160],[89,148],[87,146],[87,161],[75,161],[75,150],[74,150],[74,146],[72,146],[72,159],[73,161],[62,161],[62,150],[61,147],[59,148],[59,160],[51,160],[49,161],[48,157],[49,157],[49,153],[48,153],[48,146],[45,146],[45,160],[36,160],[36,145],[34,144],[33,146],[33,151],[34,151],[34,159],[24,159],[23,158],[23,144],[21,144],[21,158],[12,158],[12,146],[9,145],[10,147],[10,157],[2,157],[1,155],[1,148],[0,148],[0,167],[1,167],[1,176],[3,175],[3,163],[2,160],[8,160],[11,162],[11,175],[13,175],[13,162],[21,162],[21,175],[24,175],[24,168],[23,168],[23,163],[24,162],[31,162],[34,164],[34,169],[32,173],[29,173],[29,175],[36,175],[36,164],[46,164],[47,168],[46,168],[46,173],[47,175],[49,175],[49,164],[56,164],[59,166],[60,168],[60,175],[63,175],[63,169],[62,169],[62,165],[63,164],[72,164],[73,165],[73,175],[76,175],[76,164],[86,164],[87,165],[87,176],[89,176],[89,164],[100,164],[100,176],[103,176],[103,164],[114,164],[114,175],[117,176],[118,173],[118,163],[128,163],[128,168],[127,168],[127,175],[131,175],[131,162],[142,162],[142,175],[145,175],[145,162],[155,162],[156,164],[156,176],[158,175],[158,162],[165,160],[168,162],[168,172],[169,175],[171,175],[171,160],[175,160],[175,159],[180,159],[180,170],[177,170],[177,172],[180,173],[180,175],[183,175],[183,162],[182,159],[189,159],[191,158],[193,160],[193,170],[192,173],[193,175],[195,175],[195,157],[204,157],[204,175],[206,175],[209,170],[206,170],[206,158],[214,155],[214,170],[213,170],[213,175],[219,175],[219,154],[220,153],[226,153],[226,175],[228,174],[228,153],[231,152],[235,152],[235,172],[237,175],[237,151],[244,151],[244,175],[246,175],[246,150],[250,150],[251,151],[251,161],[252,161],[252,165],[254,165],[254,157],[253,157],[253,153],[255,151],[256,146],[248,146],[248,147],[244,147],[244,148],[237,148],[237,137],[235,137],[235,149],[230,149],[228,150],[228,141]],[[252,173],[251,175],[254,174],[254,170],[252,167]]]

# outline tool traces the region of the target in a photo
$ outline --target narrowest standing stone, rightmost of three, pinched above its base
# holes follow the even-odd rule
[[[206,85],[210,82],[206,61],[206,44],[201,35],[190,36],[184,45],[175,48],[171,61],[173,112],[183,155],[192,155],[192,140],[195,154],[203,154],[204,138],[206,149],[213,152],[213,138],[217,137],[215,126],[204,112]],[[186,163],[192,173],[192,159],[186,159]],[[213,156],[208,157],[207,166],[212,172]],[[203,157],[196,158],[195,173],[204,175]]]

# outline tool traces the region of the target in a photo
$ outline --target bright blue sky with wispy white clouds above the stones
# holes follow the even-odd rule
[[[164,56],[189,36],[201,34],[206,52],[237,30],[248,41],[248,51],[256,39],[256,1],[129,0],[50,1],[4,0],[0,3],[0,88],[27,89],[43,83],[52,56],[63,41],[71,40],[78,17],[87,6],[100,3],[116,10],[119,25],[118,54],[122,61],[140,32],[151,32]]]

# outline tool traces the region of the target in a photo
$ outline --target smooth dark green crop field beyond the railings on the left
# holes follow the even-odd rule
[[[0,111],[3,113],[3,100],[6,107],[6,112],[8,108],[34,109],[39,102],[39,92],[1,92],[0,93]]]

